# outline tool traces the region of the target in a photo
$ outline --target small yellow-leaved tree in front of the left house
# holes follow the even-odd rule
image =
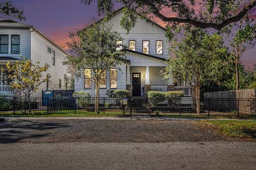
[[[45,64],[41,67],[39,64],[39,62],[32,63],[25,57],[22,57],[13,66],[10,66],[9,62],[6,64],[9,72],[8,77],[13,80],[10,84],[11,88],[19,90],[22,95],[28,98],[29,112],[31,112],[30,97],[38,91],[42,83],[50,79],[50,74],[43,75],[49,65]]]

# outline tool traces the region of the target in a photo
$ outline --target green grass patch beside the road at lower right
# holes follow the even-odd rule
[[[203,124],[210,124],[217,128],[218,132],[229,137],[256,138],[256,121],[238,120],[216,120],[200,121]]]

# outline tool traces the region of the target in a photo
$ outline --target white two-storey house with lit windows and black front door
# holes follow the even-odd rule
[[[169,56],[167,48],[169,42],[165,37],[166,29],[153,21],[138,19],[130,33],[120,25],[123,16],[122,8],[115,12],[110,21],[113,30],[121,33],[124,41],[117,41],[119,45],[128,46],[126,50],[127,63],[120,66],[121,70],[113,68],[106,73],[102,81],[100,97],[107,97],[107,90],[127,89],[132,96],[145,96],[148,90],[169,91],[181,90],[185,96],[191,97],[191,87],[182,87],[182,83],[169,84],[163,80],[160,71],[166,67],[165,61]],[[90,69],[86,69],[89,71]],[[94,83],[89,78],[76,78],[75,91],[87,90],[94,96]]]

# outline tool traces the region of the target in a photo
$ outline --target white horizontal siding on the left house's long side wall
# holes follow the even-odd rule
[[[47,52],[47,47],[50,47],[52,51],[55,51],[55,65],[53,65],[52,59],[53,52]],[[62,64],[66,56],[67,54],[65,52],[63,52],[59,47],[51,43],[51,41],[43,37],[40,33],[38,33],[37,31],[31,32],[31,61],[38,61],[40,62],[41,66],[43,66],[45,63],[50,65],[49,69],[46,72],[48,74],[51,74],[49,90],[60,90],[59,80],[61,80],[61,90],[66,89],[65,74],[67,73],[67,66]],[[41,84],[38,92],[34,96],[41,97],[42,90],[46,90],[46,83]]]

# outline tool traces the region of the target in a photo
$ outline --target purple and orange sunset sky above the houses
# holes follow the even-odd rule
[[[65,49],[69,40],[69,31],[83,28],[100,18],[97,13],[97,3],[87,6],[80,0],[12,0],[12,2],[25,11],[27,19],[22,21],[23,23],[34,25]],[[119,7],[121,7],[119,4],[115,6],[115,8]],[[256,16],[256,10],[254,11],[253,15]],[[159,24],[164,23],[159,21]],[[245,53],[242,62],[245,69],[252,70],[253,64],[256,64],[256,48]]]

